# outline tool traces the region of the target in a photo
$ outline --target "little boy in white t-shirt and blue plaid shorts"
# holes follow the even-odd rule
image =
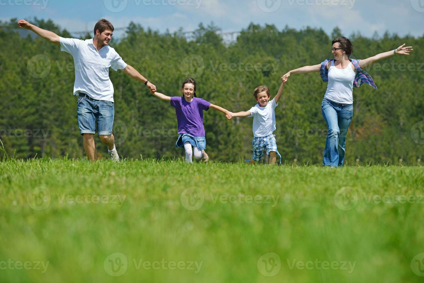
[[[250,164],[255,164],[262,159],[265,148],[268,152],[269,164],[276,163],[277,154],[280,157],[281,164],[281,155],[277,151],[275,135],[272,132],[276,129],[274,109],[278,106],[284,85],[285,81],[282,81],[277,95],[271,101],[269,101],[271,98],[269,88],[265,85],[257,87],[253,96],[258,104],[249,111],[232,113],[233,117],[253,117],[253,155],[250,160],[247,160]]]

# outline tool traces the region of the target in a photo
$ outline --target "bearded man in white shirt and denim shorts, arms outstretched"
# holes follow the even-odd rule
[[[109,157],[119,161],[112,134],[114,118],[113,85],[109,78],[109,67],[123,70],[131,78],[142,81],[150,90],[156,86],[130,65],[109,46],[114,27],[105,19],[98,21],[94,27],[94,38],[63,38],[57,34],[36,27],[25,20],[18,25],[26,28],[48,41],[60,45],[61,50],[70,53],[75,65],[74,95],[78,95],[78,126],[84,137],[84,149],[87,158],[97,159],[94,144],[95,125],[100,140],[108,146]]]

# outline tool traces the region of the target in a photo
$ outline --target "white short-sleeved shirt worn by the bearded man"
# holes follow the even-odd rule
[[[84,92],[91,98],[114,102],[109,67],[117,71],[127,64],[112,47],[105,45],[97,51],[93,39],[60,37],[60,49],[74,58],[74,95]]]

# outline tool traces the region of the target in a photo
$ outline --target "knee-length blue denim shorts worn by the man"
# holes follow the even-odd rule
[[[106,100],[91,100],[78,97],[78,127],[81,134],[112,134],[113,118],[115,114],[114,103]]]

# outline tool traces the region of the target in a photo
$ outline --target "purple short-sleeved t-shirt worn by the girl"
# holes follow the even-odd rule
[[[178,133],[190,134],[193,137],[204,137],[203,110],[208,111],[210,102],[193,97],[187,102],[182,96],[172,96],[171,106],[175,108],[178,121]]]

